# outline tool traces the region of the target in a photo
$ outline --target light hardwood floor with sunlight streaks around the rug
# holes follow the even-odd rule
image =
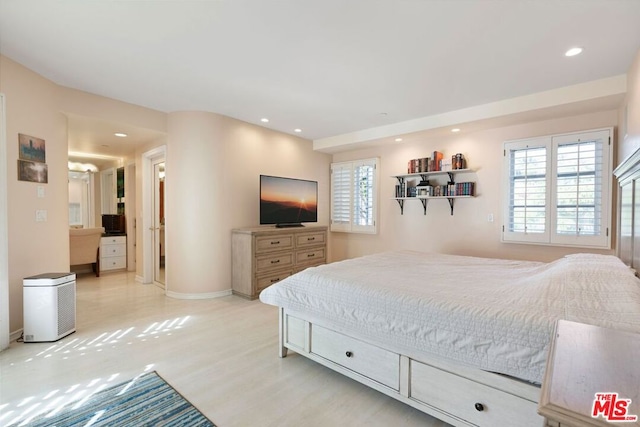
[[[280,359],[277,308],[259,300],[177,300],[133,273],[80,275],[76,327],[0,353],[0,425],[155,370],[219,427],[448,426],[293,352]]]

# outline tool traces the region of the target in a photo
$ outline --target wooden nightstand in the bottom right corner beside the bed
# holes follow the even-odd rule
[[[638,355],[640,334],[559,320],[538,408],[545,425],[640,426]]]

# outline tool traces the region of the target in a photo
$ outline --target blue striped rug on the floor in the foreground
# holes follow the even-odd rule
[[[71,403],[51,417],[43,414],[27,425],[215,427],[155,371],[101,390],[75,406]]]

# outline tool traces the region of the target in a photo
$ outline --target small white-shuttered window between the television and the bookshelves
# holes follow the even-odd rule
[[[331,231],[376,233],[378,159],[331,164]]]

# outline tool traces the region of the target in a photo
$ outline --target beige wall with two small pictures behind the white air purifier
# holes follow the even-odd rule
[[[6,95],[7,204],[9,246],[9,328],[22,327],[22,279],[35,274],[68,271],[69,211],[66,118],[57,108],[59,88],[0,56],[0,91]],[[48,183],[17,180],[18,134],[46,143]],[[45,189],[37,197],[37,187]],[[47,221],[36,222],[35,211]]]

